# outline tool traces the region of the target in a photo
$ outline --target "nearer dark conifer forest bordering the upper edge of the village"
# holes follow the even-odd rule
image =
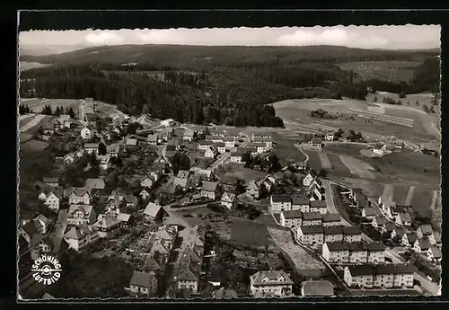
[[[205,93],[189,85],[159,81],[145,75],[104,74],[95,66],[55,66],[26,71],[21,96],[94,100],[136,115],[180,122],[226,123],[233,126],[283,127],[274,109],[266,106],[282,98],[260,85],[215,87]],[[273,100],[275,99],[275,100]]]

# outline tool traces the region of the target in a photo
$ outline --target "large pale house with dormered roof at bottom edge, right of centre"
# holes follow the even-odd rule
[[[292,294],[293,281],[282,270],[263,270],[250,276],[252,297],[287,297]]]

